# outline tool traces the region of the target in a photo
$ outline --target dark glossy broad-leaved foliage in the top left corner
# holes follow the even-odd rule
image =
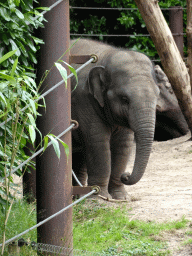
[[[37,63],[36,52],[43,41],[33,36],[34,29],[43,27],[45,20],[33,0],[3,0],[0,3],[0,57],[18,49],[16,56],[7,59],[2,67],[10,69],[14,59],[19,58],[16,73],[34,76],[33,65]],[[44,9],[44,8],[41,8]]]

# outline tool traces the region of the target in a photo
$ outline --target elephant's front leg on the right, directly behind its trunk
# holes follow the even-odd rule
[[[134,133],[122,127],[117,128],[111,137],[111,176],[108,190],[114,199],[129,199],[120,177],[127,167],[133,140]]]

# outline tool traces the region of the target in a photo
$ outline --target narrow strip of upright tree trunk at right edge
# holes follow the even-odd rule
[[[188,58],[187,67],[189,68],[189,76],[192,88],[192,1],[187,0],[187,44],[188,44]]]

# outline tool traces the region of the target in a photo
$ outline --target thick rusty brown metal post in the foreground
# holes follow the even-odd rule
[[[40,4],[41,6],[51,6],[54,2],[54,0],[41,0]],[[58,6],[47,12],[45,18],[48,22],[45,23],[45,28],[41,29],[38,35],[45,42],[39,53],[38,80],[69,47],[69,1],[63,0]],[[69,62],[69,55],[66,54],[63,60]],[[44,81],[41,90],[48,90],[61,79],[59,71],[54,67]],[[46,96],[46,110],[42,109],[42,116],[37,119],[37,127],[43,136],[48,133],[59,135],[70,126],[70,91],[68,82],[67,89],[65,85],[60,86]],[[69,132],[62,139],[71,149],[71,133]],[[60,160],[52,146],[36,159],[38,222],[72,202],[71,153],[67,161],[63,146],[60,149]],[[72,209],[40,226],[37,233],[38,243],[72,248]]]

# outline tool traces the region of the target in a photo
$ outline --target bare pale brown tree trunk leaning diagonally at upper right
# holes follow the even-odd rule
[[[157,0],[135,0],[192,133],[190,78]],[[188,0],[190,2],[190,0]]]

